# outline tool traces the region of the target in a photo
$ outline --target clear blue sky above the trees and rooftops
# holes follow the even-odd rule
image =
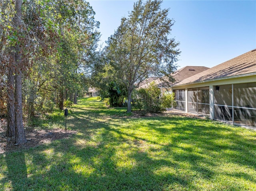
[[[133,0],[88,0],[100,22],[104,43],[133,10]],[[255,0],[164,0],[175,20],[171,37],[180,42],[176,63],[214,67],[256,48]]]

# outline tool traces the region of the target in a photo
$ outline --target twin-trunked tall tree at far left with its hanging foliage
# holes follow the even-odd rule
[[[52,30],[39,14],[36,1],[1,1],[0,59],[1,75],[7,90],[7,136],[15,136],[17,144],[26,143],[22,112],[22,78],[29,71],[33,58],[46,53]],[[36,9],[37,8],[37,9]],[[26,72],[25,72],[26,73]]]

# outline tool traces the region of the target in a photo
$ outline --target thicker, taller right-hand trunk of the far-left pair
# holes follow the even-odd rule
[[[21,6],[22,0],[15,1],[15,14],[14,14],[14,25],[18,34],[21,30]],[[22,118],[22,62],[20,54],[20,45],[17,43],[14,47],[14,63],[16,65],[15,70],[15,139],[16,144],[25,144],[27,142],[25,138],[23,118]]]

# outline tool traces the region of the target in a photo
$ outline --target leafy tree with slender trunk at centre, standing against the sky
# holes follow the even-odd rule
[[[180,54],[174,38],[168,38],[174,21],[168,10],[161,10],[160,0],[134,3],[134,10],[107,41],[106,55],[128,93],[127,112],[131,112],[135,86],[149,76],[164,77],[172,82],[174,63]]]

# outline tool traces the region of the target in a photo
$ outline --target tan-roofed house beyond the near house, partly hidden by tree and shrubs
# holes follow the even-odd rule
[[[191,77],[193,75],[196,75],[202,71],[205,71],[209,69],[208,67],[204,66],[186,66],[183,67],[173,73],[173,78],[175,79],[174,83],[178,83],[188,77]],[[156,77],[150,77],[140,83],[140,86],[138,88],[146,88],[150,85],[150,83],[155,82],[158,88],[161,90],[161,95],[163,95],[166,92],[172,91],[172,83],[171,85],[167,85],[166,83],[162,82],[159,78]]]

